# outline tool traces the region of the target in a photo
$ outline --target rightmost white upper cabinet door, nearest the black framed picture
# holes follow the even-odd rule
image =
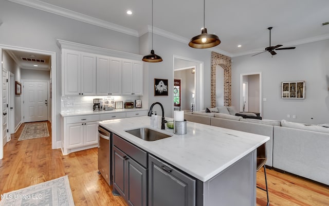
[[[141,62],[133,63],[133,94],[143,95],[143,65]]]

